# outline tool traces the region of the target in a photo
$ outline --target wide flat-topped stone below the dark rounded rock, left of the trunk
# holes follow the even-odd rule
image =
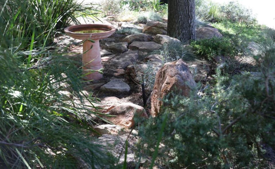
[[[158,50],[162,46],[156,42],[133,42],[129,45],[129,49],[140,50],[144,52],[152,52]]]

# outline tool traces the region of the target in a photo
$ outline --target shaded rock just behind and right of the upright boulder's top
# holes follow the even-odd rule
[[[210,67],[207,64],[202,64],[198,62],[192,62],[192,64],[190,65],[190,68],[194,76],[195,82],[206,80],[207,75],[210,72]]]

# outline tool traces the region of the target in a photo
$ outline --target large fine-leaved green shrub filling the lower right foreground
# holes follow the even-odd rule
[[[266,148],[275,146],[274,64],[260,70],[260,78],[235,76],[228,84],[218,68],[215,87],[202,97],[197,91],[190,98],[169,95],[162,113],[139,127],[139,155],[156,153],[155,162],[170,168],[269,168]]]

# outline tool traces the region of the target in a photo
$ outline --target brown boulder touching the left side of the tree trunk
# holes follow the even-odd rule
[[[142,33],[154,35],[167,34],[167,23],[162,23],[159,21],[149,21],[143,28]]]

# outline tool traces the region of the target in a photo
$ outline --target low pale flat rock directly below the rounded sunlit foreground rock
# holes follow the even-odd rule
[[[129,129],[126,129],[119,125],[112,125],[112,124],[98,125],[94,128],[94,130],[98,132],[100,135],[103,135],[103,134],[122,135],[122,134],[130,133]]]

